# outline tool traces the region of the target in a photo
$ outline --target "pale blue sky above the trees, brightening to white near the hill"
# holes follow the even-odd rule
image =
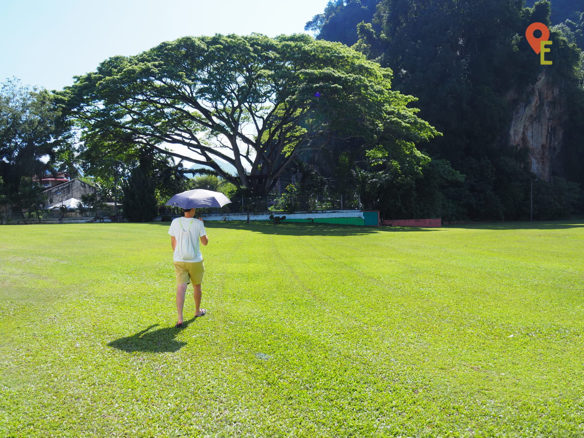
[[[303,33],[328,0],[0,0],[0,82],[61,89],[182,36]]]

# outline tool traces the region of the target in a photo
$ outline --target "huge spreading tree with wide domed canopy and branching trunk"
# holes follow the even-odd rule
[[[307,35],[215,35],[110,58],[62,96],[97,155],[147,148],[265,194],[298,152],[332,135],[364,143],[388,131],[408,142],[436,135],[391,77],[363,54]]]

